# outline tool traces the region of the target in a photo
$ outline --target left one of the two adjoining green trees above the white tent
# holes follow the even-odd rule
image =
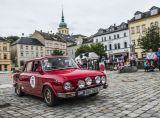
[[[77,49],[77,51],[75,52],[75,56],[77,57],[78,55],[80,55],[81,53],[85,53],[85,52],[91,52],[91,47],[88,45],[82,45],[81,47],[79,47]]]

